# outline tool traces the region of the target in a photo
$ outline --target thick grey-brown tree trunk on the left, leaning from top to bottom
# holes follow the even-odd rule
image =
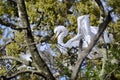
[[[27,47],[32,55],[33,62],[36,64],[36,68],[38,70],[42,70],[43,73],[46,74],[47,80],[55,80],[47,64],[44,62],[44,60],[39,55],[36,45],[35,44],[33,44],[32,46],[28,45],[28,44],[34,43],[34,38],[31,32],[30,23],[28,20],[28,15],[27,15],[24,1],[25,0],[16,0],[17,7],[18,7],[18,13],[19,13],[19,17],[21,20],[21,25],[23,28],[26,28],[26,30],[23,30],[23,31],[24,31]]]

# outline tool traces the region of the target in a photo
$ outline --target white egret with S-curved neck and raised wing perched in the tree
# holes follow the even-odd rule
[[[68,35],[68,30],[62,25],[55,27],[54,33],[58,37],[57,43],[59,44],[58,46],[61,53],[67,53],[67,48],[78,47],[80,39],[82,39],[83,41],[82,48],[87,48],[91,42],[91,39],[98,32],[98,27],[90,26],[89,15],[79,16],[77,18],[77,23],[78,23],[77,35],[68,40],[66,43],[63,42],[63,38]],[[109,40],[109,36],[107,36],[106,32],[104,34],[104,40],[106,40],[105,42]]]

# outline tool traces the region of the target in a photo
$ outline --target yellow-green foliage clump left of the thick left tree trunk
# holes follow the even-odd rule
[[[16,32],[15,34],[15,42],[12,42],[7,45],[6,53],[11,56],[18,56],[20,52],[25,51],[24,45],[24,34],[23,32]]]

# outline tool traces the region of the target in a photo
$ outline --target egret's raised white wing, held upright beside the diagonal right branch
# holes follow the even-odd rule
[[[89,15],[79,16],[77,18],[78,34],[82,35],[83,46],[86,48],[90,44],[93,34],[90,29]]]

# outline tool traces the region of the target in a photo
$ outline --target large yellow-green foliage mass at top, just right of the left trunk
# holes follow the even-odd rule
[[[39,19],[39,13],[37,10],[44,12],[43,24],[48,26],[55,26],[56,23],[63,24],[65,21],[66,5],[57,2],[57,0],[30,0],[26,2],[28,15],[31,22]]]

